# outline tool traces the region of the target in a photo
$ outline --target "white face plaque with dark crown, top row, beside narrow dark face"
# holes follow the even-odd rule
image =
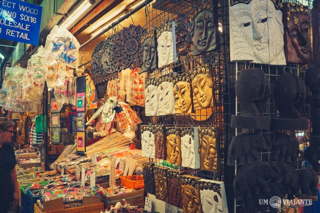
[[[158,67],[165,67],[177,62],[174,21],[161,26],[156,32]]]

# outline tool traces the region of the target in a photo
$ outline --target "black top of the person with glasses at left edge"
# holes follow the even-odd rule
[[[5,143],[0,148],[0,199],[13,200],[11,171],[17,164],[12,146]]]

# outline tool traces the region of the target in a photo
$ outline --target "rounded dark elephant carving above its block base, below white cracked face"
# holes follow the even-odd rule
[[[236,96],[241,115],[262,116],[271,93],[268,77],[262,69],[245,69],[236,81]]]

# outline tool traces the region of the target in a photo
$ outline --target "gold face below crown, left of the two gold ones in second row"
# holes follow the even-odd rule
[[[190,83],[179,81],[173,87],[173,95],[175,99],[175,113],[191,113],[192,101]]]

